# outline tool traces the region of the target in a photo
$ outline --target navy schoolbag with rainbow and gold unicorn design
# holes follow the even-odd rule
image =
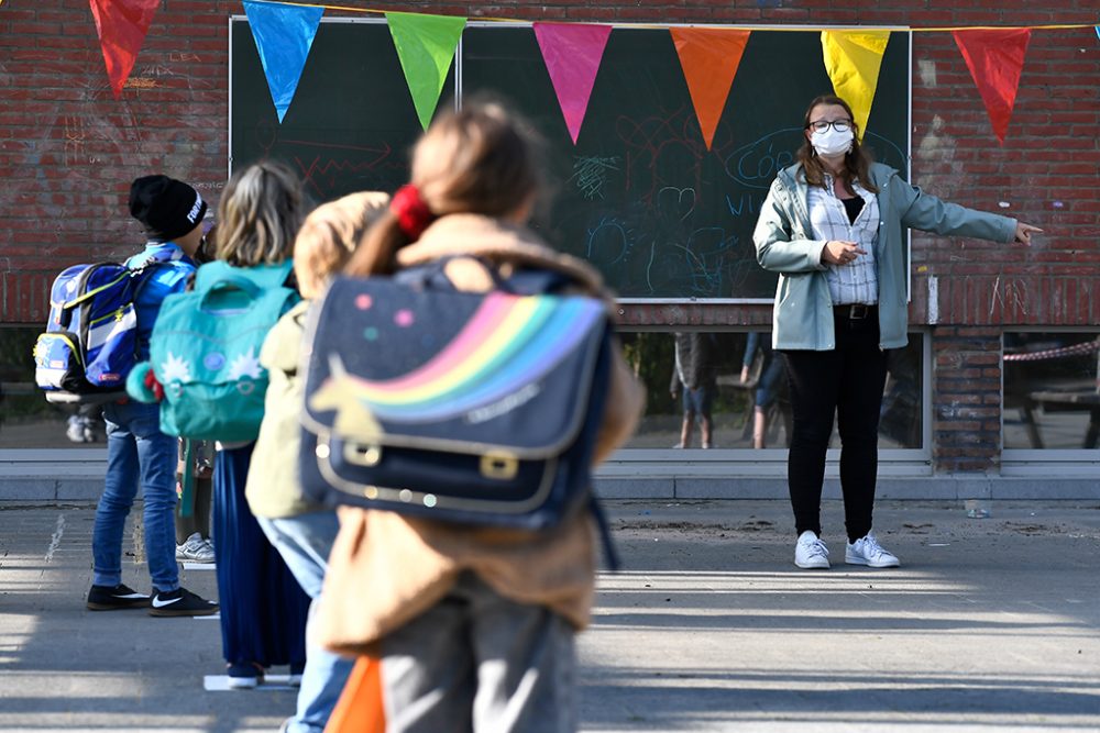
[[[590,485],[610,374],[606,304],[550,295],[556,274],[471,293],[446,284],[442,265],[418,270],[336,278],[314,306],[305,493],[529,530],[588,504],[602,523]]]

